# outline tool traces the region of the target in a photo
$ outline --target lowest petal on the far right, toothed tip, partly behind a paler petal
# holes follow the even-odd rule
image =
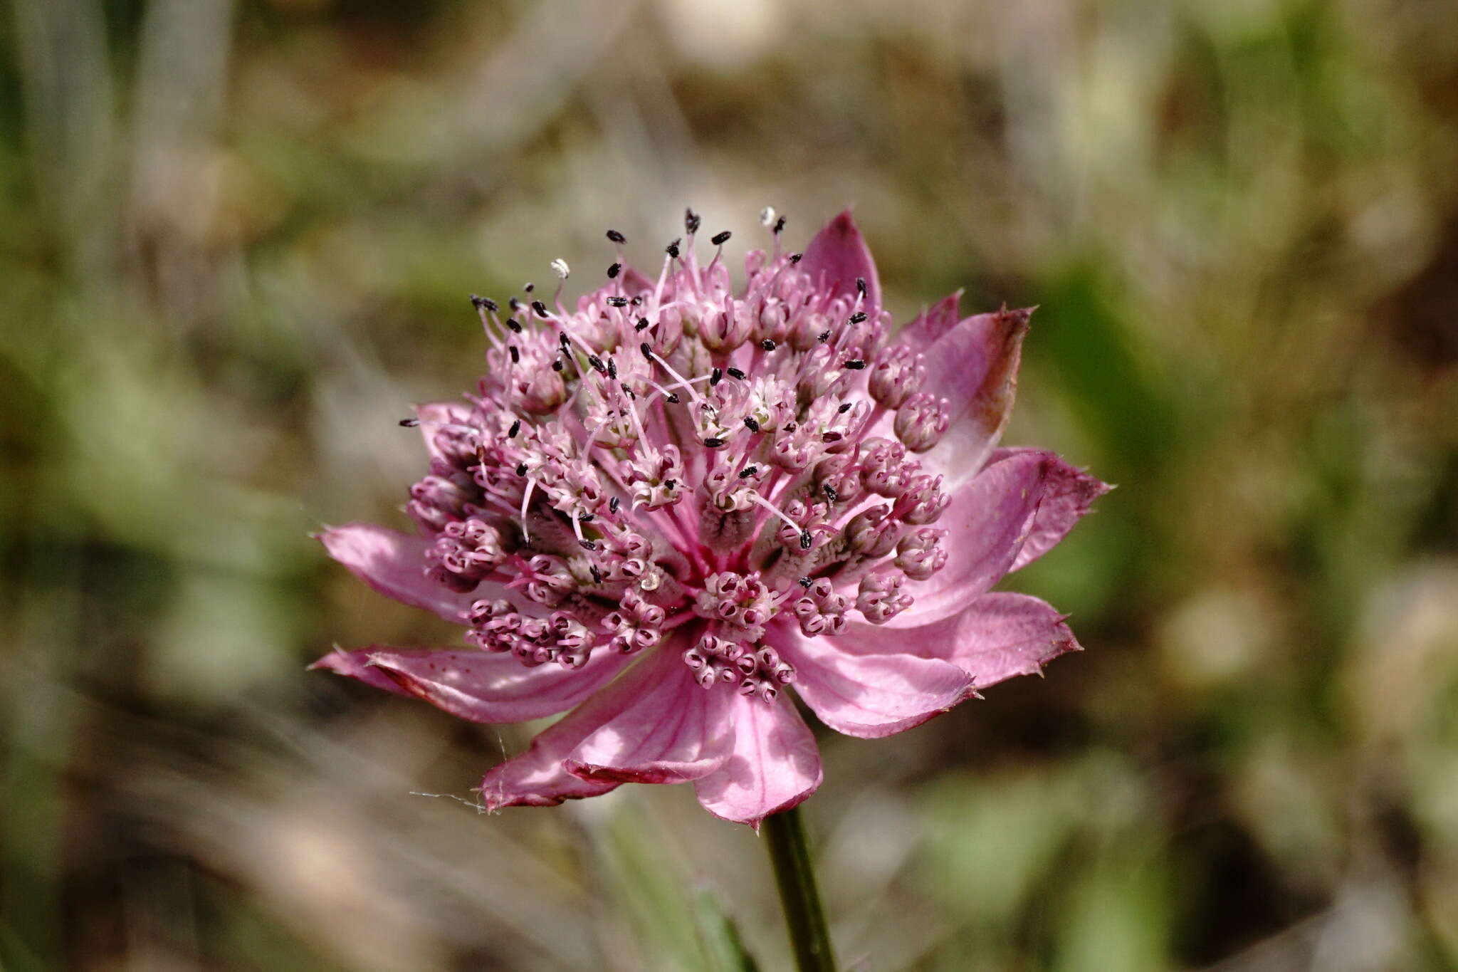
[[[857,654],[904,651],[951,662],[978,688],[1018,675],[1035,675],[1067,651],[1080,651],[1066,616],[1051,605],[1007,592],[980,595],[955,615],[920,628],[851,624],[835,646]]]

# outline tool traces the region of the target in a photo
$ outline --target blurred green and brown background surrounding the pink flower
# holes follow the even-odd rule
[[[478,816],[522,727],[303,672],[452,637],[306,535],[467,294],[685,204],[1041,305],[1007,442],[1121,487],[1010,581],[1085,654],[825,734],[847,968],[1458,968],[1451,1],[12,0],[0,92],[4,972],[786,968],[685,787]]]

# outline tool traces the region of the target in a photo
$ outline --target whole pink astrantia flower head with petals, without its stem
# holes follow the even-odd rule
[[[656,278],[614,262],[572,310],[560,287],[475,299],[486,377],[408,423],[417,532],[322,533],[469,647],[321,667],[484,723],[572,710],[486,775],[488,807],[693,783],[757,825],[821,781],[792,695],[886,736],[1077,648],[1044,602],[990,593],[1107,490],[996,447],[1031,312],[961,319],[954,294],[897,329],[849,213],[803,255],[765,222],[741,287],[690,213]]]

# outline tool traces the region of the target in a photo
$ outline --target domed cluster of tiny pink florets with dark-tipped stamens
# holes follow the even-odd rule
[[[946,404],[866,287],[784,254],[779,226],[738,290],[722,246],[698,265],[691,216],[656,281],[614,262],[570,310],[560,289],[504,318],[474,299],[487,375],[421,414],[432,462],[407,504],[430,577],[504,587],[474,603],[472,644],[580,667],[693,622],[701,685],[774,698],[795,675],[761,644],[781,612],[806,637],[851,611],[881,624],[946,563],[929,525],[948,497],[914,458]]]

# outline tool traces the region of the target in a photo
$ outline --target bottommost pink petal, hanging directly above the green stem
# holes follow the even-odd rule
[[[733,750],[719,769],[694,783],[694,793],[714,816],[760,829],[764,818],[815,793],[819,750],[809,726],[783,695],[770,704],[735,695],[729,718]]]

